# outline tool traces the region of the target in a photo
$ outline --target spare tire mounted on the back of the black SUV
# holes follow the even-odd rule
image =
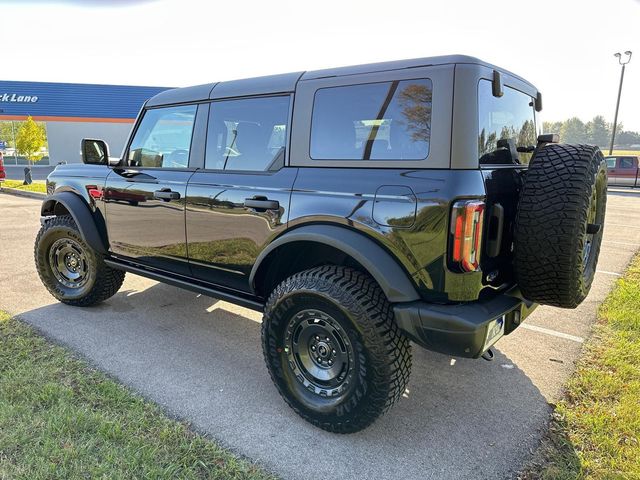
[[[575,308],[598,263],[607,165],[591,145],[548,144],[531,159],[520,192],[514,270],[525,298]]]

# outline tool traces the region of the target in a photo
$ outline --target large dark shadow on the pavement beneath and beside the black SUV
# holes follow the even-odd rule
[[[153,284],[97,307],[56,303],[21,318],[285,478],[509,477],[547,424],[551,407],[499,350],[486,362],[414,347],[409,388],[390,412],[363,432],[324,432],[271,384],[260,315],[227,307]]]

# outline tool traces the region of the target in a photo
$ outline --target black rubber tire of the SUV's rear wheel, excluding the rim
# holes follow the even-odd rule
[[[335,397],[309,391],[296,377],[285,348],[292,319],[316,309],[343,327],[355,353],[352,382]],[[317,267],[280,283],[265,307],[262,346],[271,379],[284,400],[302,418],[330,432],[366,428],[398,401],[409,381],[409,340],[398,329],[378,284],[351,268]]]

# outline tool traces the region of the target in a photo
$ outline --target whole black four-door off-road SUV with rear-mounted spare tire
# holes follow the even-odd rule
[[[263,311],[286,402],[358,431],[405,391],[410,340],[489,358],[538,303],[587,295],[606,164],[538,135],[541,108],[464,56],[168,90],[121,158],[85,139],[51,173],[38,273],[69,305],[132,272]]]

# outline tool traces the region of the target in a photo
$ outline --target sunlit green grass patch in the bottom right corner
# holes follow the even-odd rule
[[[640,479],[640,255],[599,321],[522,478]]]

